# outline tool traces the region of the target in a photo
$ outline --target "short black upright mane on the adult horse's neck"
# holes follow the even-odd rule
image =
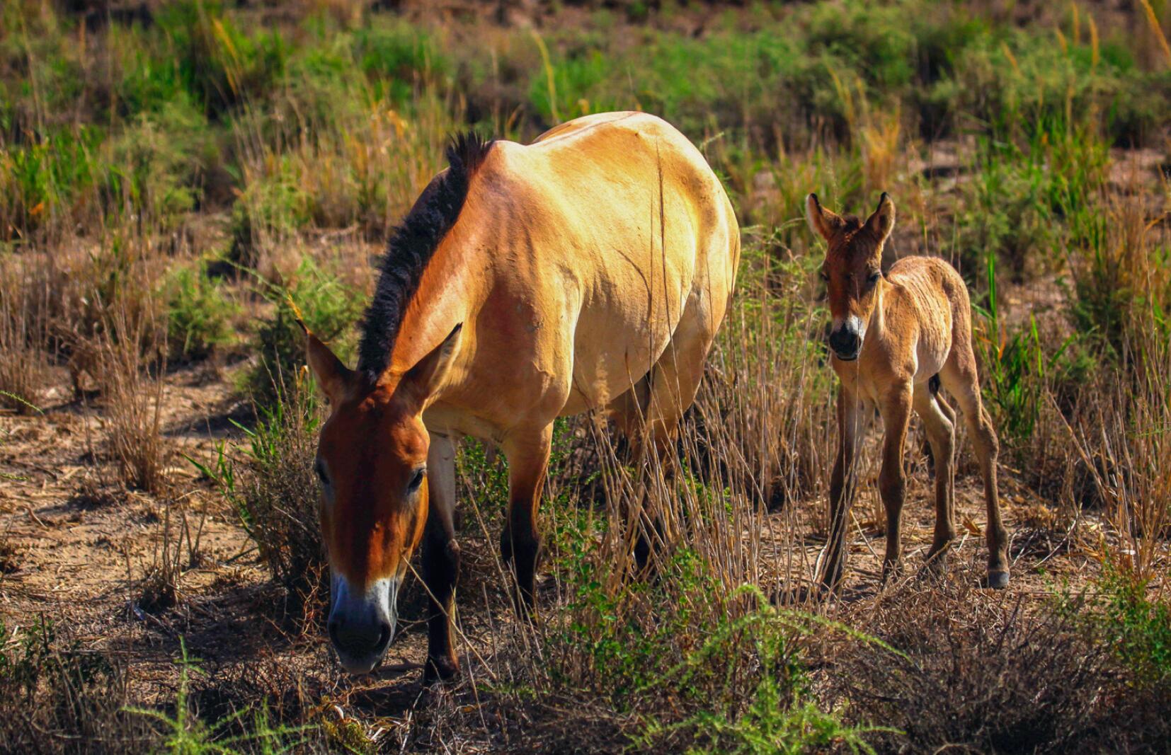
[[[472,132],[452,138],[447,144],[451,167],[423,190],[406,218],[391,232],[386,253],[378,262],[378,286],[362,318],[358,370],[371,379],[390,366],[406,306],[436,247],[456,225],[468,183],[492,144]]]

